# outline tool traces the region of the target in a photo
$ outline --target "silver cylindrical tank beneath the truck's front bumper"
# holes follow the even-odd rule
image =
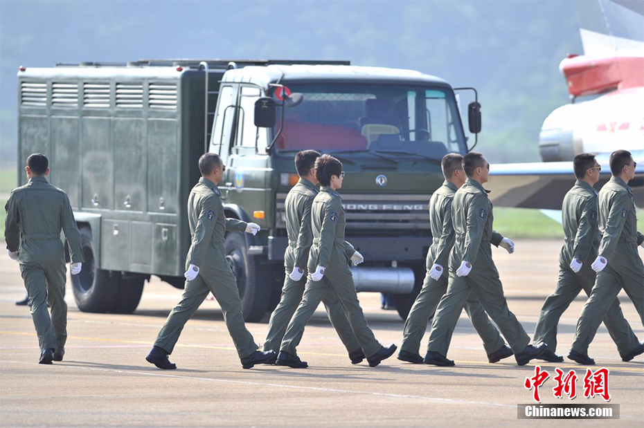
[[[415,281],[411,268],[351,268],[351,273],[358,292],[409,294]]]

